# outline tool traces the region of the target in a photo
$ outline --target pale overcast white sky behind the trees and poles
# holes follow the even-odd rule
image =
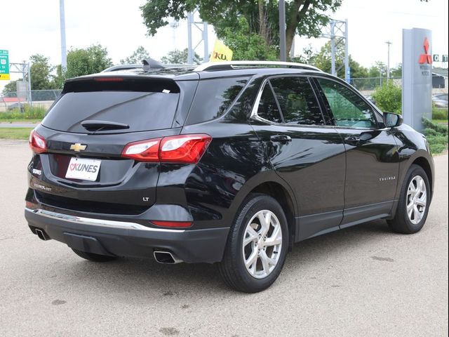
[[[23,62],[39,53],[52,65],[60,64],[59,0],[1,0],[0,49],[9,51],[10,62]],[[159,59],[175,48],[187,47],[187,22],[179,27],[163,27],[154,37],[147,36],[139,7],[145,0],[65,0],[67,49],[101,44],[114,63],[126,58],[138,46],[144,46],[152,58]],[[448,54],[448,1],[430,0],[343,0],[331,14],[336,20],[348,20],[349,54],[365,67],[375,61],[387,63],[387,44],[391,41],[390,64],[402,60],[402,29],[432,30],[435,54]],[[213,49],[213,27],[208,29],[209,51]],[[201,32],[194,29],[194,45]],[[326,39],[295,38],[295,54],[311,44],[318,50]],[[203,55],[203,47],[196,50]],[[441,64],[434,64],[436,66]],[[447,64],[445,65],[447,67]],[[11,79],[18,75],[11,74]],[[8,81],[0,81],[0,91]]]

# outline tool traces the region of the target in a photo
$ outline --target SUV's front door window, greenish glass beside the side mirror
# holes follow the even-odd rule
[[[373,109],[360,95],[328,79],[317,79],[329,103],[336,126],[376,128]]]

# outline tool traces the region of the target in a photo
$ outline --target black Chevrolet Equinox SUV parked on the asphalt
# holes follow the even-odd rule
[[[87,260],[217,263],[270,286],[295,242],[427,218],[427,140],[320,70],[285,62],[114,68],[65,82],[32,131],[25,218]]]

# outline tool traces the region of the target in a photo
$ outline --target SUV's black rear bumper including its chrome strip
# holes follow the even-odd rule
[[[169,230],[138,223],[67,216],[42,209],[25,209],[29,227],[75,249],[114,256],[150,258],[167,250],[187,263],[222,260],[229,227]],[[36,234],[36,233],[35,233]]]

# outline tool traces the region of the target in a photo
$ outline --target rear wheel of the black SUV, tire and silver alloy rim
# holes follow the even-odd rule
[[[265,219],[263,227],[260,219]],[[244,238],[246,246],[243,246]],[[276,281],[287,250],[288,226],[281,205],[265,194],[250,194],[229,230],[218,270],[232,289],[256,293]],[[246,261],[250,263],[248,268]]]

